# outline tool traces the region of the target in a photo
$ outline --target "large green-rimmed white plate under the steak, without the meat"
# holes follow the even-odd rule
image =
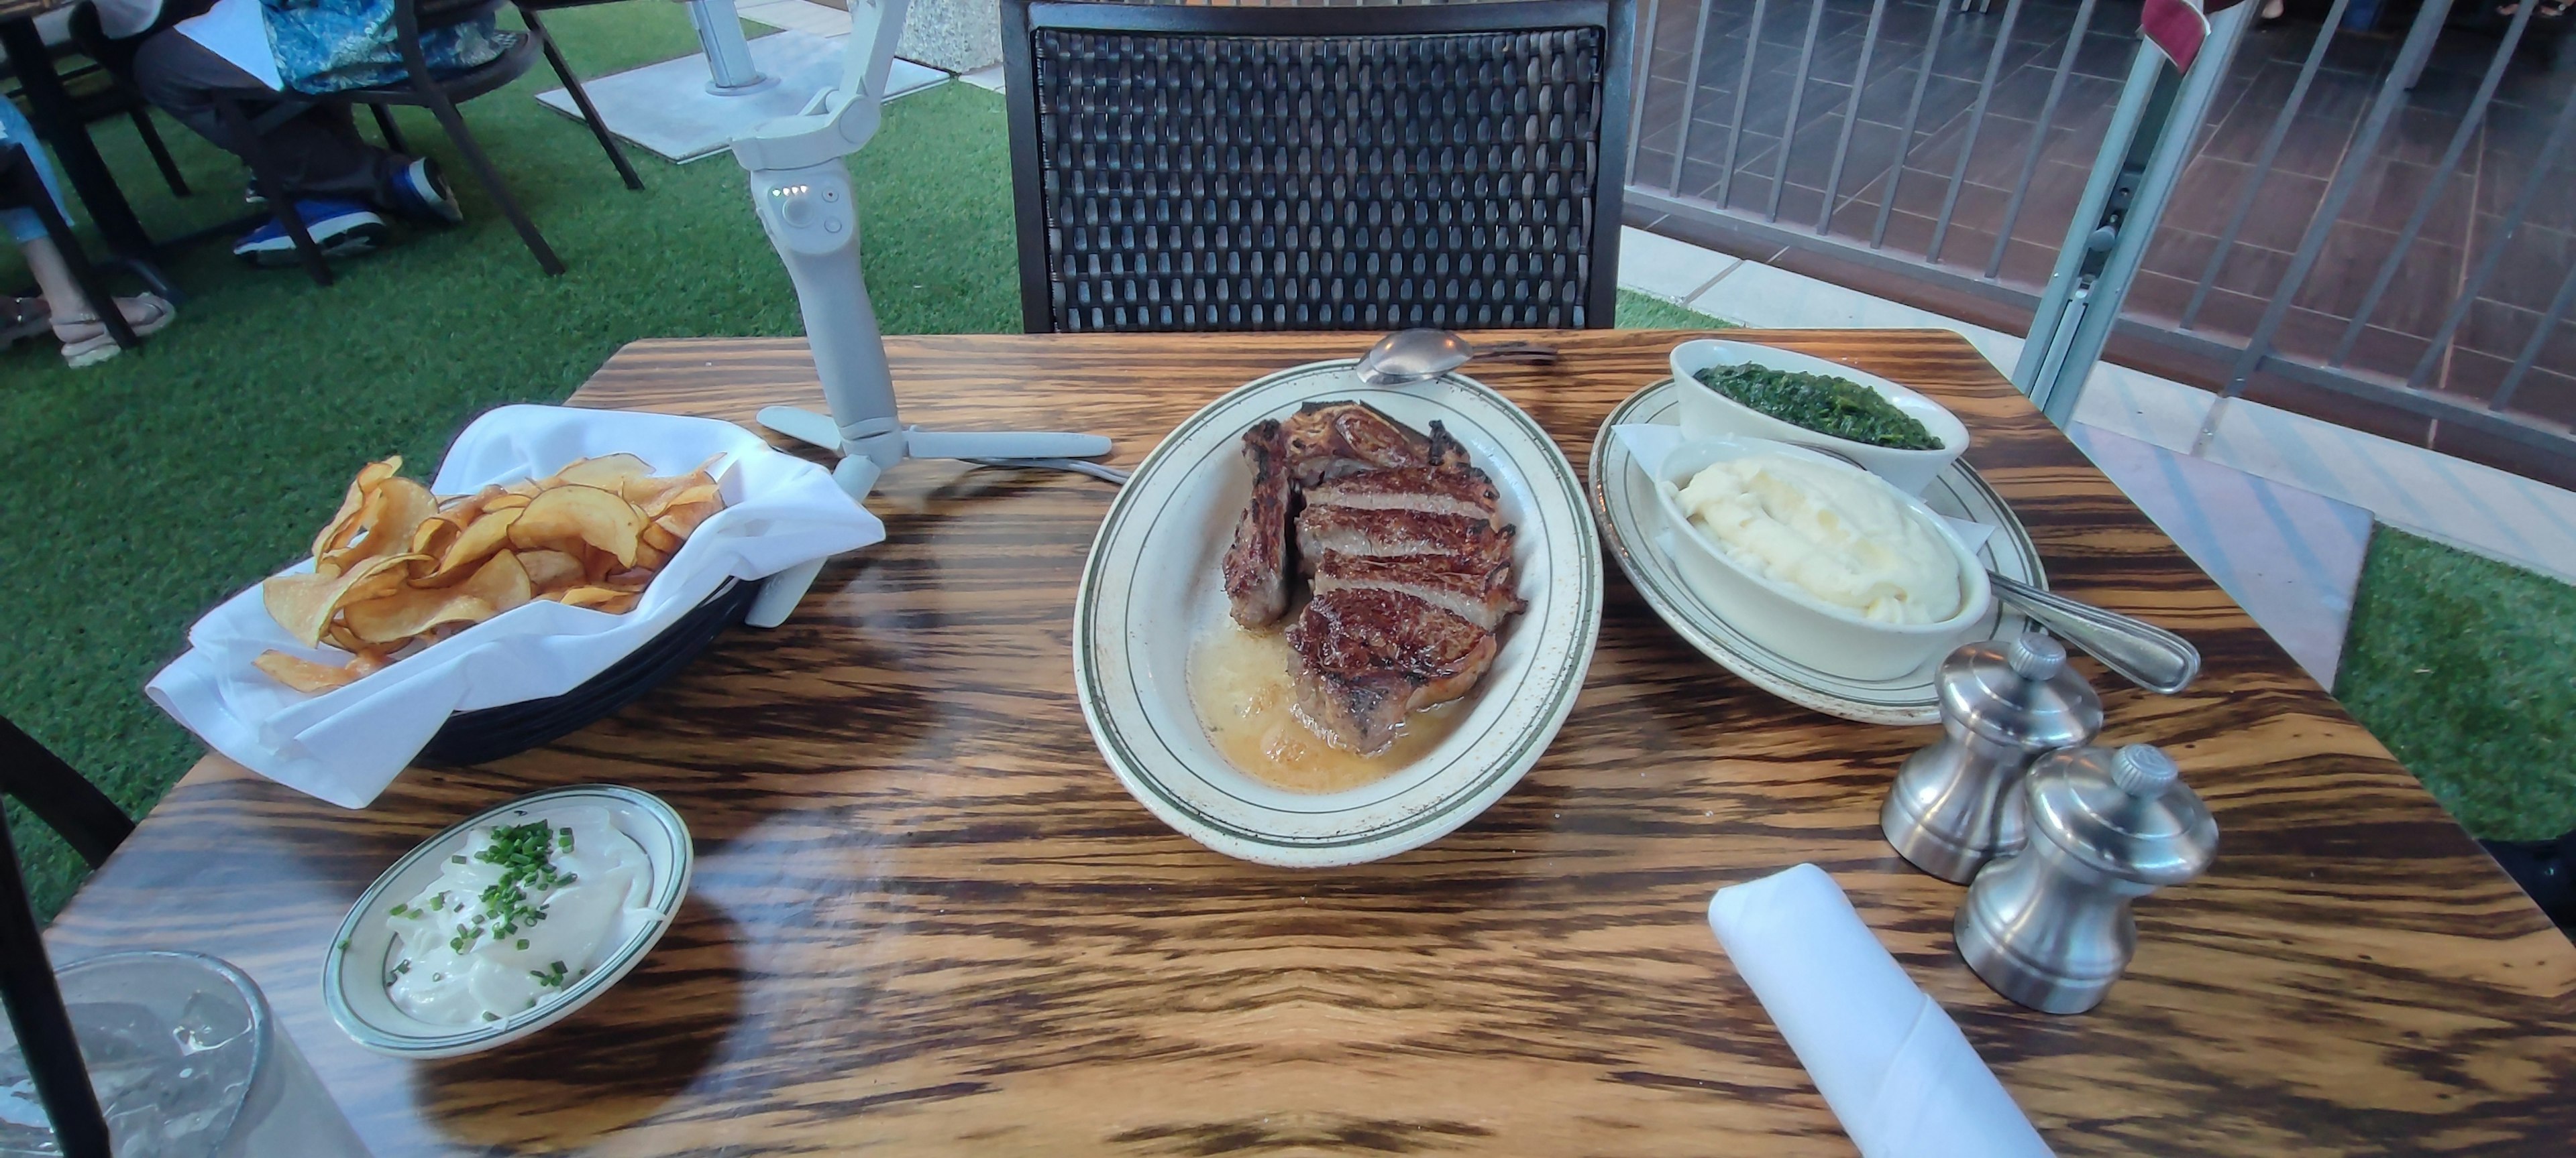
[[[1291,793],[1239,772],[1190,703],[1190,648],[1226,628],[1221,561],[1252,497],[1242,435],[1306,401],[1365,401],[1430,432],[1437,419],[1520,528],[1512,571],[1528,610],[1463,718],[1427,754],[1342,793]],[[1110,772],[1180,834],[1260,865],[1394,857],[1476,818],[1538,764],[1574,710],[1600,641],[1592,507],[1564,453],[1520,407],[1463,378],[1363,386],[1350,360],[1280,371],[1211,401],[1146,455],[1092,543],[1074,602],[1074,687]]]

